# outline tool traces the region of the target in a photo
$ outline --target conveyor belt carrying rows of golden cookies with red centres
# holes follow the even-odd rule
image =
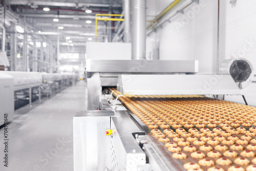
[[[120,95],[118,91],[114,91],[116,96]],[[212,140],[216,139],[216,137],[221,136],[223,132],[228,132],[231,134],[231,136],[236,136],[241,140],[242,136],[244,139],[248,139],[248,144],[241,144],[241,141],[237,140],[234,141],[233,144],[240,144],[243,146],[243,150],[235,150],[231,149],[230,145],[225,144],[225,141],[218,141],[220,145],[225,145],[228,147],[227,150],[225,151],[233,151],[238,154],[237,157],[228,157],[224,156],[225,151],[220,151],[218,149],[215,149],[217,145],[212,145],[208,144],[210,143],[209,141],[205,141],[206,145],[209,145],[213,148],[213,151],[221,153],[223,158],[229,159],[232,164],[230,165],[220,165],[216,161],[219,158],[210,158],[207,156],[208,151],[202,151],[200,150],[201,145],[195,145],[193,142],[190,142],[190,146],[195,146],[197,148],[196,152],[200,152],[205,154],[206,157],[197,159],[191,157],[191,153],[193,152],[185,152],[183,147],[181,145],[178,145],[178,147],[181,147],[182,151],[181,153],[184,153],[187,155],[186,159],[174,159],[172,157],[173,153],[167,151],[167,147],[164,147],[166,152],[169,154],[169,159],[171,160],[176,160],[176,162],[179,162],[180,164],[185,164],[187,162],[195,162],[198,163],[199,160],[201,159],[210,159],[214,161],[215,167],[218,168],[223,168],[225,170],[228,170],[229,167],[232,165],[234,166],[240,166],[246,169],[247,166],[250,164],[256,164],[256,158],[255,157],[246,157],[241,154],[242,152],[245,153],[245,155],[256,154],[256,147],[251,149],[248,147],[248,145],[255,145],[256,144],[256,129],[252,129],[252,127],[256,126],[256,108],[252,106],[247,106],[243,104],[238,104],[238,103],[233,103],[233,102],[228,102],[228,101],[223,101],[223,100],[217,100],[217,99],[211,99],[211,98],[206,98],[203,96],[120,96],[120,100],[126,105],[127,108],[130,109],[134,113],[135,118],[137,120],[140,118],[140,124],[145,126],[145,119],[150,119],[157,125],[157,129],[160,129],[161,133],[163,133],[162,128],[160,128],[160,125],[164,123],[169,126],[170,129],[172,129],[174,132],[176,132],[175,126],[181,126],[182,129],[185,130],[185,132],[188,132],[188,128],[185,128],[185,125],[187,123],[191,123],[193,128],[197,129],[198,132],[205,133],[205,136],[210,137]],[[162,123],[156,123],[156,119],[160,119],[163,121]],[[155,120],[155,121],[154,121]],[[144,122],[143,122],[144,121]],[[235,123],[238,123],[235,125]],[[176,125],[174,125],[176,124]],[[197,125],[201,124],[201,125]],[[197,126],[196,126],[197,125]],[[189,126],[186,125],[186,126]],[[202,127],[206,127],[209,129],[209,131],[205,132],[204,130],[200,129]],[[228,127],[227,127],[228,126]],[[222,132],[218,132],[214,128],[220,128],[223,130]],[[245,131],[242,131],[242,129],[238,129],[239,127],[244,127]],[[226,130],[225,130],[226,129]],[[208,136],[211,134],[211,132],[217,133],[217,136]],[[239,130],[239,131],[237,131]],[[250,130],[250,131],[249,131]],[[184,133],[185,133],[184,132]],[[164,134],[166,138],[170,140],[170,142],[175,142],[174,138],[168,137],[169,134]],[[224,134],[223,134],[224,135]],[[244,137],[247,135],[248,137]],[[193,134],[192,136],[195,136]],[[231,137],[229,136],[222,136],[225,139],[230,139]],[[152,135],[154,137],[154,135]],[[179,135],[179,137],[184,138],[186,140],[187,137],[184,137],[182,135]],[[197,137],[200,140],[201,137]],[[154,137],[154,139],[159,140],[158,138]],[[252,140],[250,140],[252,139]],[[159,142],[158,146],[164,146],[165,142]],[[242,141],[242,142],[247,142],[247,141]],[[175,142],[177,143],[177,142]],[[249,149],[248,149],[249,148]],[[253,153],[251,153],[253,152]],[[235,159],[237,158],[243,158],[243,159],[248,159],[250,164],[239,164],[234,162]],[[253,160],[255,159],[255,160]],[[180,165],[179,164],[179,165]],[[201,168],[203,170],[207,170],[212,166],[202,166]],[[185,169],[184,169],[185,170]]]

